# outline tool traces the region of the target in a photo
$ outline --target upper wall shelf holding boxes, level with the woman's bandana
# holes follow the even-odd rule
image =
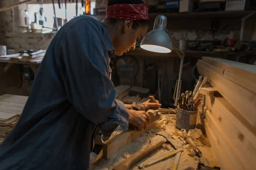
[[[245,17],[256,10],[244,10],[244,11],[213,11],[213,12],[181,12],[181,13],[162,13],[167,18],[175,18],[175,19],[182,19],[182,18],[241,18]],[[149,13],[150,18],[155,18],[157,15],[161,13]],[[99,15],[92,15],[97,19],[104,19],[105,13]],[[256,13],[253,14],[251,17],[256,17]]]

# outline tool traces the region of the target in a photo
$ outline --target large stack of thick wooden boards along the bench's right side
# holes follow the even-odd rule
[[[197,66],[213,86],[198,113],[222,169],[256,169],[256,66],[211,57]]]

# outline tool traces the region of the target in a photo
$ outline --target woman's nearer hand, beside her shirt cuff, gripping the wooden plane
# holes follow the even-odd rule
[[[134,126],[137,126],[137,131],[146,129],[147,127],[147,119],[150,122],[150,116],[145,111],[135,111],[135,110],[128,110],[129,112],[129,123]]]

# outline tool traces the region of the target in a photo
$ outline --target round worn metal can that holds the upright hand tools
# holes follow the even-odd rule
[[[186,111],[177,106],[177,116],[176,116],[176,128],[177,129],[195,129],[197,111]]]

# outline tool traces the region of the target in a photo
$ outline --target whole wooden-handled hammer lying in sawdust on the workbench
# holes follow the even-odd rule
[[[116,165],[113,170],[130,170],[135,164],[137,164],[139,161],[145,159],[147,156],[149,156],[151,153],[155,152],[156,150],[160,149],[163,144],[169,143],[171,146],[177,150],[179,148],[183,147],[183,144],[181,142],[174,139],[172,136],[170,136],[165,131],[160,131],[157,133],[158,136],[155,136],[153,139],[157,140],[157,144],[146,147],[144,150],[140,150],[136,153],[134,153],[132,156],[130,156],[128,159],[125,159],[118,165]],[[160,136],[160,137],[159,137]],[[160,140],[159,140],[160,139]]]

